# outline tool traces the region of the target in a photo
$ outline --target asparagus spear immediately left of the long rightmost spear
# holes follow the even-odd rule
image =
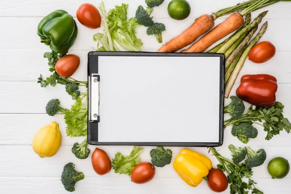
[[[231,54],[229,55],[229,57],[227,57],[227,59],[226,59],[226,69],[231,64],[231,62],[236,58],[236,56],[238,56],[238,54],[242,52],[243,48],[246,47],[247,43],[250,41],[250,39],[253,37],[253,35],[255,34],[255,32],[257,30],[258,30],[258,26],[255,26],[245,36],[245,38],[242,40],[242,42],[240,42],[238,44],[236,44],[236,43],[233,44],[233,45],[235,45],[236,48],[233,50],[233,52],[231,52]],[[230,48],[232,48],[232,46]]]

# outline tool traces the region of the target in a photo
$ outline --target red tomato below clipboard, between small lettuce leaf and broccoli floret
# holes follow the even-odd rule
[[[137,164],[131,172],[131,182],[136,184],[144,184],[149,182],[155,176],[156,169],[153,164],[149,162],[142,162]]]

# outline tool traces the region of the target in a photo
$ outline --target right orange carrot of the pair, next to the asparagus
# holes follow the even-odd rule
[[[243,17],[238,13],[234,13],[227,17],[224,22],[208,32],[200,40],[195,42],[190,48],[182,50],[181,52],[203,52],[220,39],[239,29],[242,24]]]

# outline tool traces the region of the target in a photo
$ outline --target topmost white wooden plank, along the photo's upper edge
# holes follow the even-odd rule
[[[152,15],[154,17],[169,17],[167,13],[167,6],[171,0],[165,0],[163,4],[154,9]],[[78,7],[82,3],[92,3],[95,6],[98,6],[101,0],[62,0],[61,2],[58,0],[51,1],[35,1],[35,0],[14,0],[15,3],[9,3],[9,1],[0,0],[0,16],[26,16],[26,17],[44,17],[50,12],[57,9],[65,9],[72,16],[76,16],[76,11]],[[146,7],[144,1],[138,0],[126,0],[125,3],[129,4],[128,15],[134,16],[135,10],[138,5],[143,5]],[[237,3],[242,2],[242,0],[203,0],[203,1],[189,1],[191,5],[191,14],[189,18],[196,18],[203,14],[211,14],[212,12],[216,12],[219,9],[223,9],[229,6],[234,6]],[[104,2],[107,10],[112,9],[115,5],[120,5],[120,0],[106,0]],[[38,9],[35,9],[37,7]],[[268,18],[291,18],[288,15],[288,11],[291,8],[291,4],[288,2],[277,3],[268,8],[264,8],[264,10],[270,10],[268,14]],[[257,14],[257,13],[255,13]],[[254,15],[255,15],[254,14]],[[226,17],[226,16],[224,16]]]

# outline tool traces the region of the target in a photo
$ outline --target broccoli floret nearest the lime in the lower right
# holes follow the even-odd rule
[[[245,160],[245,164],[249,168],[262,165],[267,158],[267,154],[264,149],[259,149],[257,152],[254,152],[250,147],[247,147],[246,153],[247,159]]]

